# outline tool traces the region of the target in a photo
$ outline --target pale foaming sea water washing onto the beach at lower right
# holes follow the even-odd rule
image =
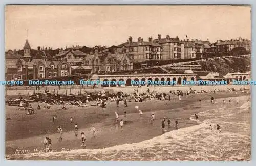
[[[198,125],[166,132],[139,143],[104,149],[77,149],[68,152],[10,155],[7,159],[29,160],[249,160],[250,102],[240,107],[223,106],[198,113]],[[194,115],[190,120],[196,121]],[[210,124],[213,126],[212,130]],[[221,133],[216,125],[221,126]]]

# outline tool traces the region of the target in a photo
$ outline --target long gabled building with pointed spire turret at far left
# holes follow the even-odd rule
[[[30,54],[31,47],[28,39],[24,46],[24,55],[6,56],[6,80],[44,79],[71,75],[71,67],[66,60],[54,61],[44,50],[36,56]]]

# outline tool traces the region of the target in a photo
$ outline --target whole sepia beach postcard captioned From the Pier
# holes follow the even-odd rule
[[[5,16],[7,160],[250,160],[250,6]]]

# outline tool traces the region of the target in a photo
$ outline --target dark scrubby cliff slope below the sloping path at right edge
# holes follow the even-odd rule
[[[207,61],[199,61],[206,71],[226,74],[227,72],[240,72],[251,70],[251,57],[220,58]]]

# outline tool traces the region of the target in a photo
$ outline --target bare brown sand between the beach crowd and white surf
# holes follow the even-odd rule
[[[238,94],[235,94],[234,92],[219,92],[219,93],[212,93],[212,95],[214,95],[215,98],[219,98],[219,97],[241,96],[244,94],[239,92]],[[128,114],[126,118],[123,117],[122,115],[124,108],[123,108],[123,103],[120,102],[119,103],[120,108],[118,108],[118,112],[120,115],[119,119],[123,118],[124,121],[127,121],[127,124],[124,124],[123,131],[121,131],[120,128],[116,128],[114,125],[114,112],[117,110],[117,108],[115,108],[116,106],[115,102],[110,102],[104,111],[102,110],[102,108],[94,107],[94,106],[86,107],[86,110],[80,107],[79,109],[77,109],[77,107],[74,107],[74,106],[72,106],[72,108],[69,108],[68,110],[54,111],[54,107],[52,108],[52,110],[42,109],[38,111],[36,115],[33,115],[35,116],[34,118],[31,118],[29,121],[27,121],[27,123],[32,123],[33,121],[36,121],[36,119],[39,117],[38,114],[41,114],[42,116],[40,117],[42,118],[40,119],[41,125],[35,124],[34,126],[29,127],[27,125],[24,125],[24,123],[22,123],[22,126],[20,125],[18,126],[19,129],[22,127],[29,128],[28,131],[22,128],[22,130],[24,130],[22,133],[16,132],[16,136],[19,135],[19,137],[23,137],[23,139],[13,140],[13,137],[10,134],[9,135],[10,139],[8,140],[8,136],[7,136],[6,153],[13,154],[15,153],[16,149],[29,149],[30,152],[33,152],[34,149],[43,150],[42,141],[44,140],[45,135],[50,136],[50,138],[53,140],[52,148],[57,151],[61,151],[62,148],[65,148],[65,150],[81,148],[80,135],[78,135],[78,139],[75,139],[74,132],[73,132],[74,123],[73,124],[69,123],[69,118],[71,114],[76,115],[76,116],[73,116],[74,122],[76,122],[76,120],[80,121],[78,124],[79,124],[79,128],[82,128],[82,129],[79,129],[79,132],[83,131],[86,133],[86,137],[87,137],[86,149],[104,148],[104,147],[110,147],[110,146],[119,145],[119,144],[125,144],[125,143],[141,142],[143,140],[151,139],[152,137],[159,136],[162,134],[161,120],[163,117],[168,117],[172,121],[172,127],[166,128],[166,131],[176,129],[174,125],[175,118],[181,118],[181,120],[179,120],[179,126],[178,126],[179,128],[196,125],[197,123],[190,121],[189,117],[195,113],[202,112],[204,109],[210,109],[212,107],[212,105],[209,105],[209,101],[208,101],[210,97],[211,97],[210,94],[194,94],[191,96],[183,97],[181,101],[178,101],[177,99],[172,102],[169,102],[166,100],[165,101],[144,101],[141,103],[128,102],[129,107],[125,108]],[[201,106],[199,102],[192,104],[193,102],[198,101],[199,98],[202,98],[205,100],[201,103]],[[232,101],[232,102],[235,102],[235,101]],[[143,118],[139,117],[139,112],[138,110],[135,109],[135,105],[138,105],[139,109],[143,110],[143,113],[144,113]],[[57,105],[56,107],[60,107],[60,106]],[[214,108],[217,108],[217,107],[219,106],[214,106]],[[150,125],[149,117],[152,110],[154,110],[154,113],[156,115],[156,120],[153,123],[153,125]],[[14,112],[16,111],[14,110]],[[7,112],[8,112],[8,109],[7,109]],[[22,112],[22,111],[19,111],[19,112]],[[12,115],[13,114],[14,113],[12,113]],[[53,116],[53,114],[58,114],[57,124],[53,124],[52,122],[50,122],[51,120],[50,115]],[[10,115],[11,113],[9,113],[9,116]],[[20,113],[17,115],[16,113],[16,116],[14,117],[16,118],[15,119],[16,121],[20,121],[20,119],[24,118],[24,116],[27,116],[27,115],[20,115]],[[13,119],[11,118],[11,120]],[[8,124],[8,121],[7,121],[7,124]],[[41,134],[41,133],[38,134],[38,132],[40,132],[40,128],[44,128],[44,127],[47,128],[47,124],[48,124],[48,130],[45,129],[46,134]],[[90,132],[91,125],[94,125],[96,128],[96,131],[97,131],[96,137],[92,137],[92,133]],[[61,142],[58,141],[58,134],[56,133],[57,126],[61,126],[64,131],[63,140]],[[11,126],[11,127],[13,128],[14,126]],[[166,124],[166,127],[167,127],[167,124]],[[49,128],[52,130],[49,130]],[[8,132],[8,129],[10,130],[10,127],[7,127],[7,132]],[[35,136],[35,135],[40,135],[40,136]]]

